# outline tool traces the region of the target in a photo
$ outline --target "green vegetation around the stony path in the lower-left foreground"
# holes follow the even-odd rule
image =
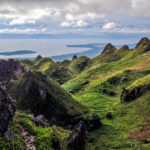
[[[65,143],[66,138],[70,135],[69,130],[57,126],[43,128],[36,126],[32,118],[27,113],[16,112],[16,117],[13,120],[13,133],[15,138],[11,141],[5,141],[0,138],[1,150],[23,150],[25,147],[23,135],[21,130],[24,128],[26,132],[34,136],[34,145],[37,150],[54,150],[55,145],[58,146],[59,142],[62,145]],[[17,139],[17,140],[16,140]]]

